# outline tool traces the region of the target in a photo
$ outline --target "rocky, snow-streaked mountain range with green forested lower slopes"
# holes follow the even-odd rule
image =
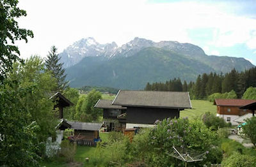
[[[72,87],[143,89],[147,82],[165,82],[175,77],[189,82],[202,73],[253,67],[244,58],[206,55],[191,43],[143,38],[134,38],[121,47],[115,42],[100,44],[92,37],[85,38],[67,47],[60,56]]]

